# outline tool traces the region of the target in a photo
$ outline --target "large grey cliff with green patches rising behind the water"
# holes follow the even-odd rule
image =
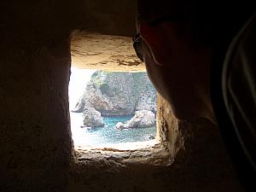
[[[96,71],[73,112],[95,108],[103,116],[156,111],[156,90],[147,73]]]

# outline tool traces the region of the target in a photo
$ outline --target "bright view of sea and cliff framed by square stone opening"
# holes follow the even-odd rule
[[[154,146],[156,90],[146,72],[71,68],[71,131],[75,148]]]

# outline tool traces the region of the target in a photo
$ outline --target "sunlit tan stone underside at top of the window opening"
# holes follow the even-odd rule
[[[110,71],[145,71],[130,37],[73,32],[73,67]]]

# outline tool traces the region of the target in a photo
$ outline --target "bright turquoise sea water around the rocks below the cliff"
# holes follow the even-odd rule
[[[83,114],[71,113],[73,141],[77,145],[102,146],[116,143],[143,142],[155,137],[156,127],[118,130],[118,122],[125,122],[132,116],[104,117],[104,127],[83,128]],[[82,127],[82,128],[81,128]]]

